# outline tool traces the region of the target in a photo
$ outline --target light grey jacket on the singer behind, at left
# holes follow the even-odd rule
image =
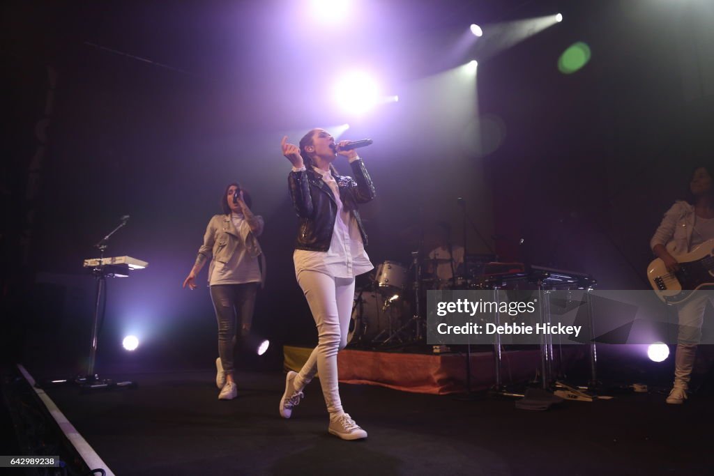
[[[263,229],[263,217],[256,216],[256,219],[261,223]],[[248,255],[251,258],[260,257],[261,265],[261,284],[265,285],[266,280],[266,262],[265,255],[261,249],[260,243],[255,233],[251,231],[246,221],[241,223],[240,229],[236,229],[229,215],[214,215],[211,221],[208,221],[206,233],[203,234],[203,245],[198,248],[198,254],[206,257],[206,260],[211,260],[211,265],[208,267],[208,280],[211,280],[213,274],[213,263],[219,261],[228,263],[236,252],[236,248],[241,243],[245,243]],[[212,258],[212,259],[211,259]]]

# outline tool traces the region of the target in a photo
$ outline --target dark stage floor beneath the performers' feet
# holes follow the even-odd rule
[[[118,475],[704,475],[714,467],[711,395],[677,406],[661,394],[626,394],[531,412],[513,400],[341,384],[345,409],[369,433],[345,442],[326,431],[318,380],[283,420],[281,373],[240,373],[231,401],[217,400],[211,370],[111,377],[139,388],[46,391]]]

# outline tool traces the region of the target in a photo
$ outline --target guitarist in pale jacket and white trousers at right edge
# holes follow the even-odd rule
[[[698,245],[714,238],[714,167],[695,168],[686,201],[675,201],[650,240],[655,255],[662,259],[670,273],[678,270],[675,256],[689,253]],[[679,333],[675,352],[674,386],[668,403],[682,404],[687,398],[695,353],[701,338],[701,327],[708,293],[699,293],[677,306]]]

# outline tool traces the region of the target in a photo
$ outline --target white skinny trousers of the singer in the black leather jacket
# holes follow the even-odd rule
[[[347,345],[347,333],[355,293],[354,278],[332,278],[318,271],[298,273],[298,284],[308,300],[318,332],[318,344],[313,349],[293,385],[301,390],[316,372],[327,411],[341,415],[342,402],[337,378],[337,353]]]

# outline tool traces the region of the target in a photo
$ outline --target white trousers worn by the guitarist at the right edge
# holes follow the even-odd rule
[[[674,360],[675,387],[688,388],[694,368],[697,345],[702,337],[704,311],[713,295],[711,291],[700,291],[677,308],[679,332]]]

